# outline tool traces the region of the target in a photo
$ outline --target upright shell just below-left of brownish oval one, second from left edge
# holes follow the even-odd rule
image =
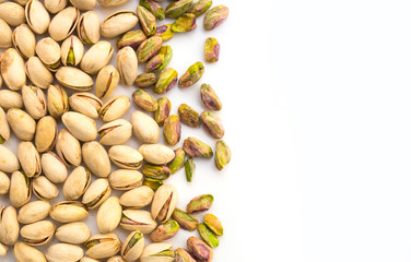
[[[27,177],[38,177],[42,174],[40,156],[32,142],[20,142],[17,158]]]

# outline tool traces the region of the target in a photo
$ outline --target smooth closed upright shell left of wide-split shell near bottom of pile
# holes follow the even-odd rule
[[[101,233],[110,233],[118,227],[121,221],[121,205],[117,196],[108,198],[97,212],[97,227]]]

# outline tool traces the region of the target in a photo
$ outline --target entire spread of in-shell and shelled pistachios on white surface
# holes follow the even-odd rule
[[[0,87],[3,82],[8,87],[0,90],[0,194],[11,204],[0,205],[0,257],[12,248],[17,262],[212,261],[222,223],[211,213],[200,223],[196,214],[209,211],[213,195],[198,195],[183,211],[166,180],[184,168],[191,182],[196,157],[214,157],[218,170],[228,164],[216,114],[222,103],[202,83],[206,111],[181,104],[171,115],[172,103],[163,95],[177,83],[195,85],[206,67],[197,61],[178,76],[168,68],[173,49],[164,43],[196,29],[201,15],[206,31],[218,27],[228,9],[212,7],[212,0],[141,0],[136,12],[114,12],[103,21],[93,11],[128,1],[0,0]],[[172,23],[157,24],[166,17]],[[116,47],[102,38],[117,38]],[[116,64],[109,64],[115,48]],[[219,41],[204,39],[204,61],[216,62],[219,56]],[[145,64],[144,72],[138,72],[139,64]],[[111,96],[119,84],[136,91]],[[130,98],[141,110],[128,121],[121,117]],[[99,118],[105,123],[97,128]],[[215,139],[214,150],[190,135],[172,148],[181,140],[181,123],[202,127]],[[161,127],[165,144],[158,142]],[[20,140],[16,154],[7,146],[12,133]],[[125,144],[133,135],[139,148]],[[122,193],[117,198],[113,190]],[[60,191],[64,201],[51,203]],[[32,193],[37,200],[31,201]],[[92,236],[82,221],[95,209],[99,234]],[[118,226],[130,231],[126,239],[114,233]],[[197,229],[200,237],[174,249],[166,240],[180,228]],[[35,248],[54,238],[59,242],[45,253]]]

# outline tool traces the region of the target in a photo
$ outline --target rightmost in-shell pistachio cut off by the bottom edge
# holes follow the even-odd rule
[[[174,251],[173,246],[166,242],[150,243],[144,247],[140,257],[140,262],[173,262]]]

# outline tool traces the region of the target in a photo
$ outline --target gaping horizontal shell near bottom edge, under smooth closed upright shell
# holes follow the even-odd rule
[[[85,254],[92,259],[105,259],[117,254],[121,249],[121,241],[114,233],[97,234],[85,243]]]

